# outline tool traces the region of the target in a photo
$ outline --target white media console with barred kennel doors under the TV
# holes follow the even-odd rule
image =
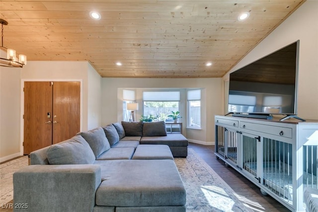
[[[304,212],[304,187],[318,189],[318,120],[215,116],[215,154],[291,211]]]

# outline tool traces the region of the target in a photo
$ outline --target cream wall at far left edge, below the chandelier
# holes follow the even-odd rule
[[[0,67],[0,162],[20,156],[20,73]]]

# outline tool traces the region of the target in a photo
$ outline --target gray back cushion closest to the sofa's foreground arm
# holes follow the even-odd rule
[[[88,143],[80,135],[54,144],[47,150],[49,164],[92,164],[95,156]]]

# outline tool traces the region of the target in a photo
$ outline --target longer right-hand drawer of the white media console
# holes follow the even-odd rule
[[[278,135],[286,138],[293,138],[293,129],[289,127],[249,123],[243,121],[240,122],[239,127],[272,135]]]

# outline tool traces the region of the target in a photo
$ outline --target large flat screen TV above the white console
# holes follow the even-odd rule
[[[299,40],[230,74],[228,112],[297,115]]]

